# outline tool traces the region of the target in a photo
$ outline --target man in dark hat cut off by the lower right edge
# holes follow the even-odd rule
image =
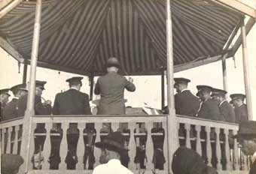
[[[237,135],[239,144],[242,145],[242,151],[245,155],[251,156],[251,169],[249,174],[256,173],[256,121],[242,121],[239,123]]]

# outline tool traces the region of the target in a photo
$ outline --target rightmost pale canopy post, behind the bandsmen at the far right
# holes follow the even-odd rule
[[[242,36],[242,60],[243,60],[243,71],[245,80],[245,95],[246,95],[246,105],[248,110],[248,119],[252,120],[252,103],[251,103],[251,76],[250,76],[250,62],[248,58],[248,50],[246,43],[246,29],[245,23],[241,26],[241,36]]]

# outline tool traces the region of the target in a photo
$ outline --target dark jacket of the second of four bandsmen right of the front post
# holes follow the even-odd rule
[[[224,118],[220,115],[218,103],[214,101],[212,98],[208,99],[207,101],[203,101],[198,112],[198,117],[224,121]]]

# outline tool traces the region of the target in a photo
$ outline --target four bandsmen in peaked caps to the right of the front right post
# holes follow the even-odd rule
[[[245,95],[230,95],[227,102],[227,92],[211,86],[197,86],[197,97],[187,89],[190,80],[175,78],[175,112],[178,115],[188,115],[198,118],[239,123],[248,120],[248,112],[244,104]],[[167,107],[163,111],[168,113]]]

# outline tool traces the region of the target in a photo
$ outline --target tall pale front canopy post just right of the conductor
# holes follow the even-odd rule
[[[173,46],[172,46],[172,13],[171,1],[166,0],[166,47],[167,47],[167,100],[169,115],[167,121],[168,173],[172,173],[172,155],[178,148],[178,126],[175,115],[173,90]]]

